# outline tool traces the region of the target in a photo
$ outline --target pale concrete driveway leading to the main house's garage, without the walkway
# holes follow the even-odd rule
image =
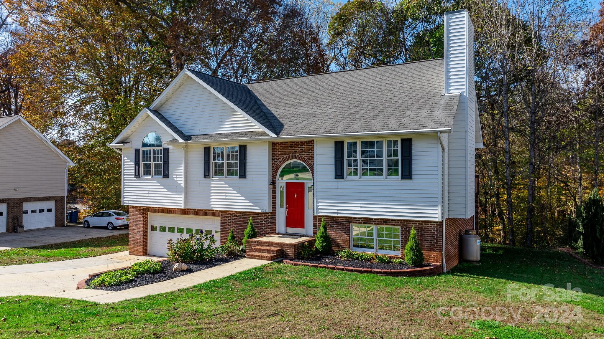
[[[132,265],[154,256],[134,256],[127,251],[92,258],[55,262],[40,262],[0,267],[0,296],[69,297],[76,292],[77,283],[88,274]]]

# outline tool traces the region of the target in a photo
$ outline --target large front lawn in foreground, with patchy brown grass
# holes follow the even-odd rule
[[[435,277],[387,277],[280,263],[194,288],[108,305],[0,297],[0,338],[604,338],[603,271],[565,253],[483,246],[481,264]],[[507,284],[580,287],[580,300],[506,300]],[[576,296],[576,294],[573,294]],[[510,319],[445,318],[439,308],[506,307]],[[473,304],[472,304],[473,305]],[[533,307],[581,307],[582,320],[533,323]],[[446,312],[444,312],[446,313]],[[488,315],[488,314],[487,314]],[[548,318],[553,318],[549,315]],[[36,332],[37,331],[37,332]]]

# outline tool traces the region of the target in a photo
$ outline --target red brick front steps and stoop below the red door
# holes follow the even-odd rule
[[[283,258],[295,259],[304,243],[315,244],[311,236],[271,234],[245,241],[246,258],[278,261]]]

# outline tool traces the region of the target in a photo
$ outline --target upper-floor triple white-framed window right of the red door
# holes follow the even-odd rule
[[[398,139],[346,141],[346,178],[400,178],[399,156]]]

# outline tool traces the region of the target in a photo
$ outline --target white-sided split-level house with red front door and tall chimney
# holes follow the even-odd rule
[[[400,255],[415,226],[451,268],[474,228],[474,29],[445,14],[445,59],[238,84],[185,69],[111,147],[122,154],[130,253],[167,238],[313,235]],[[446,267],[445,267],[446,265]]]

